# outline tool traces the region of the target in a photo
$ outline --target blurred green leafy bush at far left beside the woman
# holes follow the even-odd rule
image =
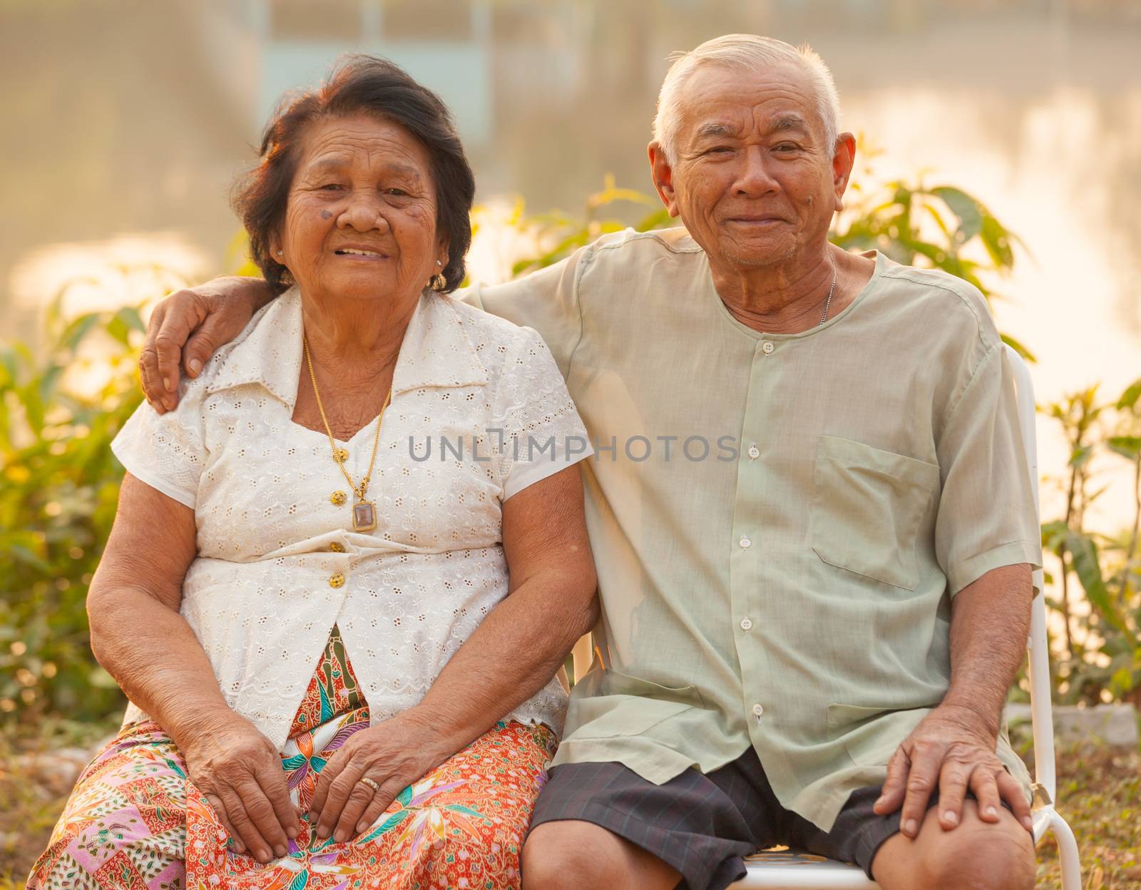
[[[111,439],[141,395],[138,309],[65,319],[50,347],[0,347],[0,719],[97,719],[122,706],[91,656],[84,600],[114,518]]]

